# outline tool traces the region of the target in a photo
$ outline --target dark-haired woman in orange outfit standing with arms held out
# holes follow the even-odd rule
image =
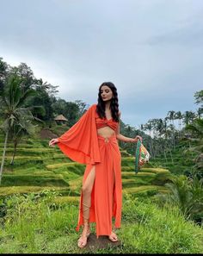
[[[113,232],[120,228],[122,184],[121,157],[117,140],[142,141],[140,136],[128,138],[120,134],[120,111],[116,87],[111,82],[99,87],[98,103],[93,104],[80,120],[65,134],[52,139],[65,155],[86,164],[76,230],[83,225],[78,247],[85,247],[90,234],[89,222],[95,222],[96,236],[108,235],[111,241],[118,238]]]

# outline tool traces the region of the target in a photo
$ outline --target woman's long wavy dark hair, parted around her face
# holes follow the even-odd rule
[[[102,86],[108,86],[113,92],[113,96],[110,103],[111,115],[115,122],[119,122],[119,99],[117,94],[117,89],[115,85],[111,82],[104,82],[100,85],[99,93],[98,93],[98,103],[96,105],[96,112],[100,116],[100,118],[105,118],[105,102],[102,100],[101,89]]]

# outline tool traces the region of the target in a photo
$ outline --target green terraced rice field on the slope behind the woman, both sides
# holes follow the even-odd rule
[[[0,138],[3,141],[3,137]],[[0,196],[15,193],[55,190],[61,201],[78,201],[85,165],[68,159],[58,147],[48,147],[48,140],[27,140],[17,147],[14,165],[10,165],[13,147],[8,144]],[[170,172],[162,168],[143,167],[134,172],[134,158],[120,148],[122,156],[123,193],[151,195],[159,190],[167,192],[163,182]],[[3,154],[3,143],[0,144]]]

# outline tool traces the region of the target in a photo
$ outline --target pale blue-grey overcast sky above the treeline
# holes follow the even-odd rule
[[[202,0],[0,0],[0,57],[25,62],[66,101],[115,84],[123,122],[195,111],[203,90]]]

